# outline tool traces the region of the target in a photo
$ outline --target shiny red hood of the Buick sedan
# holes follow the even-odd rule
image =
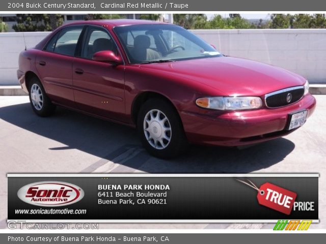
[[[200,83],[202,90],[209,90],[210,95],[220,96],[262,96],[305,83],[305,78],[282,68],[227,56],[146,64],[140,68],[191,79]]]

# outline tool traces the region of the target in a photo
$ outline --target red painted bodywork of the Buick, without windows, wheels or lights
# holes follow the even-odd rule
[[[234,57],[131,65],[113,27],[160,23],[101,20],[65,26],[87,24],[107,29],[120,49],[122,56],[118,58],[124,65],[43,51],[61,27],[35,48],[21,52],[17,75],[24,90],[27,90],[25,75],[35,74],[53,103],[129,126],[135,126],[131,116],[135,99],[145,92],[156,93],[174,105],[190,142],[211,145],[243,145],[284,136],[294,131],[284,130],[289,113],[307,109],[309,117],[315,109],[316,101],[309,93],[294,104],[276,109],[265,105],[250,111],[199,108],[195,104],[199,97],[259,96],[263,99],[270,92],[304,85],[306,80],[278,67]],[[46,66],[41,66],[41,61],[46,62]],[[83,74],[75,73],[76,70],[82,70]]]

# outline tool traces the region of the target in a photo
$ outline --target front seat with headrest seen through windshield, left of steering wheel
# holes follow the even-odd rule
[[[161,55],[157,51],[149,48],[150,44],[151,41],[148,36],[140,35],[135,37],[133,42],[134,47],[131,51],[132,57],[139,62],[160,59]]]

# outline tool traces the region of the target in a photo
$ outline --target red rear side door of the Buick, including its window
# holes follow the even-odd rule
[[[63,28],[36,57],[36,68],[47,95],[55,102],[73,107],[72,64],[83,25]]]

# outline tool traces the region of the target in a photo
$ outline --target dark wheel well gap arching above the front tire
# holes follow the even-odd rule
[[[137,125],[137,117],[138,117],[139,110],[141,109],[142,105],[147,100],[149,100],[151,98],[160,98],[160,99],[163,99],[163,100],[169,102],[172,105],[172,107],[175,108],[174,104],[170,101],[170,99],[168,99],[167,97],[165,97],[165,96],[163,96],[161,94],[154,93],[154,92],[144,92],[144,93],[141,93],[140,95],[138,95],[133,100],[133,103],[132,103],[132,106],[131,106],[131,118],[132,118],[132,121],[133,121],[133,123],[135,125]]]

